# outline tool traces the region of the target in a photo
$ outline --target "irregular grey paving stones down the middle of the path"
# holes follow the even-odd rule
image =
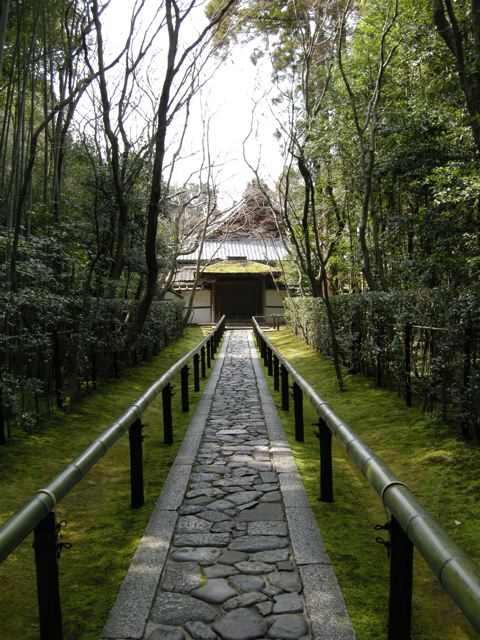
[[[145,640],[319,637],[306,613],[302,575],[292,553],[285,483],[279,482],[272,460],[248,332],[227,335],[203,439],[176,509],[171,544],[141,636]],[[283,474],[287,479],[291,475]],[[311,513],[308,505],[292,500],[287,507],[294,516],[301,516],[301,509]],[[293,533],[298,537],[298,531]],[[300,543],[299,558],[304,547]],[[324,550],[307,548],[305,553],[319,562]],[[348,626],[346,634],[324,637],[354,635]]]

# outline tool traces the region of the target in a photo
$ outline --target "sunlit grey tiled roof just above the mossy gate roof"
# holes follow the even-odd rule
[[[180,256],[178,262],[194,262],[199,251]],[[256,262],[276,262],[286,258],[281,240],[228,240],[207,241],[203,245],[202,261],[213,260],[254,260]]]

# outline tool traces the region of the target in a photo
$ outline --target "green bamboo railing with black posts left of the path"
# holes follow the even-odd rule
[[[45,487],[38,489],[24,506],[0,528],[0,562],[33,532],[41,640],[62,640],[62,615],[58,572],[58,530],[55,507],[85,477],[88,471],[128,431],[130,441],[131,507],[144,504],[142,414],[162,393],[164,442],[173,442],[172,379],[180,373],[182,411],[189,410],[189,362],[193,360],[195,391],[200,376],[206,377],[225,330],[225,316],[201,342],[178,360],[117,420],[70,462]]]

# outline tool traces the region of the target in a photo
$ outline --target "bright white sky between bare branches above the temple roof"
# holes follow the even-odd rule
[[[104,17],[107,46],[113,50],[123,42],[132,5],[132,0],[112,0]],[[154,8],[158,8],[158,2],[152,0],[146,9],[145,25]],[[195,23],[185,31],[187,37],[191,37],[204,20],[203,9],[199,11],[201,13],[197,13]],[[240,199],[245,186],[254,177],[244,161],[244,147],[249,163],[259,166],[262,179],[271,186],[283,166],[281,148],[274,138],[277,125],[271,113],[274,93],[270,82],[270,62],[268,56],[264,56],[257,65],[252,64],[250,56],[255,46],[255,43],[236,45],[201,94],[196,96],[182,152],[184,158],[177,162],[174,174],[175,182],[181,183],[199,166],[203,113],[204,119],[210,121],[210,154],[216,165],[215,180],[225,206]],[[172,137],[176,133],[175,126],[179,127],[179,122],[170,131]],[[247,137],[248,142],[244,145]]]

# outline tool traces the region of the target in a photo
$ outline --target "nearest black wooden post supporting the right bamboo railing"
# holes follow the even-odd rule
[[[390,520],[388,640],[410,640],[413,544],[397,520]]]

